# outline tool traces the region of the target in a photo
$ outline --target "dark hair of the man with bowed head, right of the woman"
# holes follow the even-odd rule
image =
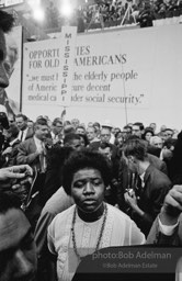
[[[135,156],[138,160],[144,161],[147,157],[146,142],[139,138],[127,139],[123,147],[125,156]]]

